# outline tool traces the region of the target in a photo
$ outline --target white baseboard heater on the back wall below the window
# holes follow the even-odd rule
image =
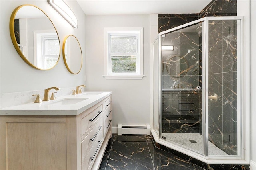
[[[117,125],[117,134],[150,135],[150,125]]]

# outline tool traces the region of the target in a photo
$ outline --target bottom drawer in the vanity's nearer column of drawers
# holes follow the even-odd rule
[[[101,135],[103,135],[103,134],[101,134]],[[97,157],[97,154],[100,150],[100,145],[102,144],[102,142],[103,142],[103,139],[101,138],[101,139],[96,140],[93,143],[87,156],[84,158],[84,160],[82,159],[82,170],[89,170],[92,167],[92,165]]]

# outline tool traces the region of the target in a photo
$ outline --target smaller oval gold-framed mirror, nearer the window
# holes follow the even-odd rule
[[[72,74],[78,74],[82,68],[83,57],[79,41],[74,35],[65,37],[62,55],[68,71]]]

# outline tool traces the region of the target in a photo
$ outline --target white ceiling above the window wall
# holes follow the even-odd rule
[[[86,15],[199,13],[211,0],[77,0]]]

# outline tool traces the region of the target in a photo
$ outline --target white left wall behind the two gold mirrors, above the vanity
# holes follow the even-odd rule
[[[78,28],[73,28],[47,0],[0,0],[0,93],[23,92],[46,89],[51,86],[59,88],[85,84],[86,75],[86,15],[75,0],[65,1],[78,18]],[[22,4],[33,4],[41,8],[54,23],[60,38],[74,35],[80,42],[83,53],[83,66],[79,74],[70,74],[65,67],[62,51],[56,67],[48,71],[36,70],[26,64],[18,55],[11,41],[9,32],[10,16],[13,10]]]

